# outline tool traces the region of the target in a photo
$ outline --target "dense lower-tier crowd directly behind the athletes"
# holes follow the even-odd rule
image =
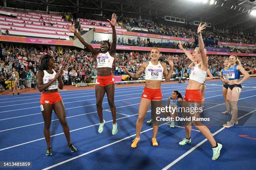
[[[12,69],[15,67],[20,73],[21,79],[31,79],[36,74],[39,68],[41,55],[50,54],[55,57],[58,67],[60,65],[64,68],[64,80],[68,77],[85,77],[95,76],[96,67],[92,54],[84,50],[63,50],[62,48],[52,49],[36,49],[33,47],[5,47],[2,48],[0,54],[0,77],[1,79],[8,79],[12,74]],[[148,61],[149,53],[146,52],[129,52],[117,53],[115,61],[114,73],[117,75],[123,74],[120,65],[125,65],[131,72],[136,72],[141,66],[142,62]],[[162,54],[160,60],[167,63],[167,58],[170,54]],[[171,54],[174,60],[175,73],[183,72],[189,73],[187,66],[189,60],[183,54]],[[209,55],[209,69],[212,74],[216,75],[223,67],[222,63],[225,56]],[[256,57],[240,57],[244,65],[256,67]]]

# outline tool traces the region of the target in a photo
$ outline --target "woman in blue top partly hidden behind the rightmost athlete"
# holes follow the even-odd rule
[[[228,92],[228,65],[229,61],[228,59],[224,60],[224,68],[220,70],[220,80],[223,82],[223,87],[222,87],[222,94],[225,100],[225,105],[226,105],[226,111],[222,112],[223,114],[228,114],[229,113],[229,104],[227,100],[227,92]]]

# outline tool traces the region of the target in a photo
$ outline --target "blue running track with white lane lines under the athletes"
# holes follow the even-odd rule
[[[152,126],[146,124],[146,120],[151,118],[150,110],[144,120],[141,141],[137,148],[131,148],[144,84],[115,88],[117,135],[112,135],[112,116],[106,95],[102,104],[106,124],[104,131],[99,134],[95,90],[61,91],[71,140],[77,152],[70,152],[58,118],[53,114],[53,155],[48,157],[45,155],[40,93],[0,96],[0,161],[31,161],[32,168],[28,169],[33,170],[253,170],[256,167],[255,85],[256,79],[248,79],[243,83],[243,92],[238,101],[238,109],[246,113],[238,114],[242,126],[225,129],[222,125],[230,120],[230,115],[221,113],[225,110],[222,83],[207,82],[205,114],[216,122],[209,129],[218,143],[223,144],[220,157],[215,161],[211,160],[210,143],[194,127],[192,142],[180,146],[178,142],[185,136],[184,128],[161,125],[157,136],[159,146],[153,147]],[[163,99],[166,100],[173,90],[178,90],[184,96],[186,86],[186,83],[162,85]]]

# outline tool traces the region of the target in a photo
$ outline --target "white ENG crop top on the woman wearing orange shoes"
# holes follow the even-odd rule
[[[153,65],[151,61],[145,69],[146,80],[163,80],[164,67],[158,62],[158,65]]]

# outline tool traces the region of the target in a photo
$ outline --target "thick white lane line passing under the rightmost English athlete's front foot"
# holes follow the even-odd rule
[[[251,114],[252,112],[255,112],[255,110],[248,112],[246,115],[243,115],[241,117],[238,118],[241,119],[242,117],[245,117],[249,114]],[[212,136],[215,136],[216,134],[220,133],[222,130],[224,130],[225,128],[220,128],[217,132],[213,133]],[[176,160],[174,160],[172,163],[170,163],[169,165],[167,165],[166,167],[164,167],[162,170],[167,170],[169,168],[171,168],[174,164],[176,164],[177,162],[179,162],[182,158],[184,158],[185,156],[187,156],[189,153],[191,153],[193,150],[195,150],[197,147],[199,147],[200,145],[202,145],[203,143],[205,143],[207,141],[207,139],[202,140],[200,143],[198,143],[197,145],[195,145],[193,148],[191,148],[190,150],[188,150],[186,153],[184,153],[183,155],[181,155],[179,158],[177,158]]]

